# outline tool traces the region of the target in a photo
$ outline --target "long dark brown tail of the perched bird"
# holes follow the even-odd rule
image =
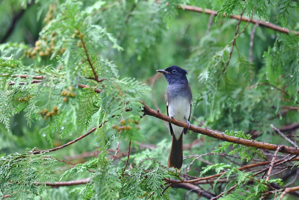
[[[183,134],[181,134],[179,140],[176,140],[176,136],[172,134],[172,144],[170,148],[170,154],[167,161],[168,168],[174,167],[181,169],[183,164]]]

